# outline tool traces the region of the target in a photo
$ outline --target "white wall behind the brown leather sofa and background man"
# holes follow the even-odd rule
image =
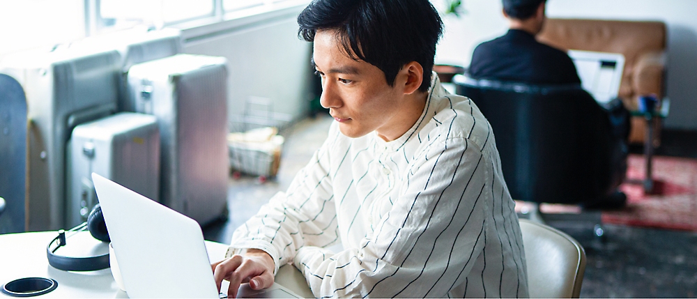
[[[468,66],[474,47],[507,30],[498,0],[465,0],[467,13],[446,16],[437,63]],[[666,128],[697,130],[697,1],[548,0],[547,16],[605,20],[659,20],[668,26]]]

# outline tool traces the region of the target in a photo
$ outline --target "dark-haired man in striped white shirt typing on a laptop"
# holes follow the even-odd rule
[[[335,122],[289,190],[235,231],[218,287],[266,288],[293,263],[318,298],[527,297],[491,127],[431,72],[443,26],[431,3],[315,0],[298,24]]]

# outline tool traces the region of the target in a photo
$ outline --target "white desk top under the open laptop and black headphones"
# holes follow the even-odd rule
[[[56,236],[55,231],[0,235],[0,285],[22,277],[46,277],[56,279],[58,288],[42,296],[36,296],[37,298],[128,298],[127,294],[116,286],[109,269],[80,273],[57,270],[50,266],[46,258],[46,245]],[[67,243],[70,246],[83,242],[99,243],[91,238],[88,232],[68,238]],[[66,250],[70,248],[68,246]],[[106,244],[89,247],[94,248],[93,254],[108,252]],[[220,261],[225,255],[227,245],[206,241],[206,249],[210,261]],[[61,253],[60,250],[58,253]],[[70,252],[65,254],[68,253]],[[314,297],[307,287],[305,277],[292,265],[280,268],[276,282],[305,298]],[[0,298],[12,297],[0,293]]]

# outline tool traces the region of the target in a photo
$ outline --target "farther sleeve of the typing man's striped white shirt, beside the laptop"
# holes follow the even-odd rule
[[[339,131],[332,126],[329,134],[293,178],[289,189],[275,194],[254,217],[236,229],[226,256],[243,254],[248,248],[264,250],[275,261],[275,274],[280,266],[292,261],[300,247],[339,242],[329,176],[330,148]]]

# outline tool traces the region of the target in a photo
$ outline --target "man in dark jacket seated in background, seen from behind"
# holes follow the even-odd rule
[[[574,62],[535,40],[544,24],[545,0],[503,0],[510,29],[475,48],[468,72],[475,79],[528,84],[581,84]]]

